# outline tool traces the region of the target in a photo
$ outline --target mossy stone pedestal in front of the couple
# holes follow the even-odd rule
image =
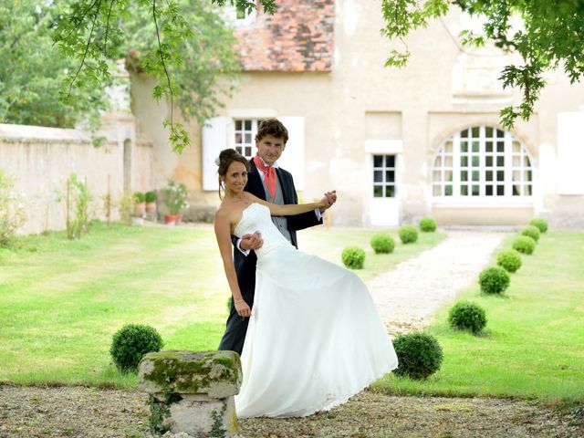
[[[234,437],[242,371],[234,351],[158,351],[141,360],[139,386],[151,400],[154,433]]]

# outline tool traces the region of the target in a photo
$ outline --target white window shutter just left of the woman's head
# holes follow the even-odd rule
[[[215,159],[219,152],[227,148],[227,127],[231,119],[215,117],[203,125],[203,190],[217,190],[217,165]]]

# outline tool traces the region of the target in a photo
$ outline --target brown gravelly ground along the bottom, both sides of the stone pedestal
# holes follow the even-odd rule
[[[151,438],[145,394],[84,387],[0,386],[0,437]],[[245,438],[584,436],[582,412],[526,401],[393,397],[363,391],[330,412],[249,419]]]

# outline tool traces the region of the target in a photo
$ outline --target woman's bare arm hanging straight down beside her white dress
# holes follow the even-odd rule
[[[231,252],[231,222],[229,215],[223,209],[219,209],[215,214],[214,223],[215,237],[217,238],[217,245],[219,245],[219,252],[223,259],[223,267],[227,283],[231,289],[231,294],[234,297],[235,310],[241,317],[249,317],[251,309],[241,295],[239,284],[237,283],[237,275],[235,274],[234,256]]]

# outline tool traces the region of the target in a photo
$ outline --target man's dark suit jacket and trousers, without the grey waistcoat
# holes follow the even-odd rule
[[[247,175],[247,185],[245,185],[245,191],[254,194],[258,198],[266,200],[266,191],[264,189],[264,183],[259,175],[255,163],[253,160],[249,162],[250,170]],[[276,168],[276,175],[280,186],[282,187],[282,195],[284,198],[284,203],[298,203],[296,188],[294,187],[294,180],[292,179],[292,174],[285,171],[284,169]],[[297,230],[303,230],[310,226],[322,224],[322,220],[318,220],[317,214],[314,212],[308,212],[304,214],[297,214],[296,216],[287,216],[287,227],[290,233],[292,245],[297,245]],[[259,230],[261,233],[262,230]],[[232,235],[232,240],[234,245],[237,241],[237,237]],[[254,293],[255,293],[255,264],[257,262],[257,257],[254,251],[250,251],[249,255],[245,256],[237,249],[234,248],[234,263],[235,272],[237,274],[237,283],[241,290],[241,294],[245,299],[245,302],[250,308],[254,306]],[[241,318],[237,315],[235,311],[235,306],[233,299],[231,302],[231,309],[229,312],[229,318],[227,318],[227,323],[225,327],[225,333],[221,343],[219,344],[219,349],[230,349],[241,354],[242,349],[244,349],[245,333],[247,332],[247,325],[249,324],[249,318]]]

